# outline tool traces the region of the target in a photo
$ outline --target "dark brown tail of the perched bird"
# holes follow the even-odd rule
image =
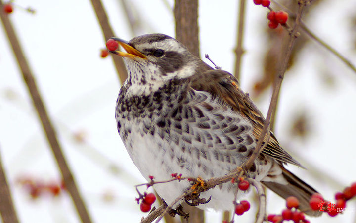
[[[312,194],[317,193],[317,191],[284,167],[280,167],[282,169],[282,177],[288,184],[280,184],[273,181],[262,181],[262,183],[284,199],[289,196],[298,198],[299,210],[307,215],[320,216],[322,212],[319,210],[313,211],[309,205]]]

